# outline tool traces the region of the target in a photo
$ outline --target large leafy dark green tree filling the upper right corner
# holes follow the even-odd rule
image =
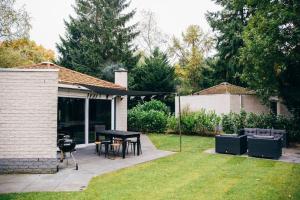
[[[299,118],[300,1],[253,2],[255,15],[243,32],[241,49],[244,79],[265,100],[272,95],[282,97]]]

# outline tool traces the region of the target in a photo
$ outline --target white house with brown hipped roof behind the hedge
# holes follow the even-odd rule
[[[217,114],[229,112],[239,113],[241,110],[257,114],[270,113],[290,115],[287,108],[278,98],[271,99],[271,108],[263,105],[253,90],[229,83],[207,88],[191,96],[181,96],[181,110],[199,111],[201,109],[215,111]],[[175,113],[178,115],[178,97],[175,99]]]

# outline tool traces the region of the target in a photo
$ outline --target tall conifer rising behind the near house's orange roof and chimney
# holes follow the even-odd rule
[[[133,67],[132,40],[138,32],[136,25],[127,25],[135,14],[125,13],[128,7],[127,0],[76,0],[77,16],[65,21],[66,35],[57,44],[58,63],[96,77],[112,63]]]

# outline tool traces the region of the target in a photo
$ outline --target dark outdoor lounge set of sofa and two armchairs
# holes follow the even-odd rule
[[[285,130],[244,128],[239,134],[224,134],[215,137],[217,153],[279,159],[282,147],[288,146]]]

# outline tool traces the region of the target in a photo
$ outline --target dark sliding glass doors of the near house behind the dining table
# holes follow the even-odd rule
[[[111,100],[89,100],[89,143],[95,141],[95,126],[104,125],[111,129]],[[85,144],[85,99],[58,98],[58,133],[65,133],[77,144]]]

